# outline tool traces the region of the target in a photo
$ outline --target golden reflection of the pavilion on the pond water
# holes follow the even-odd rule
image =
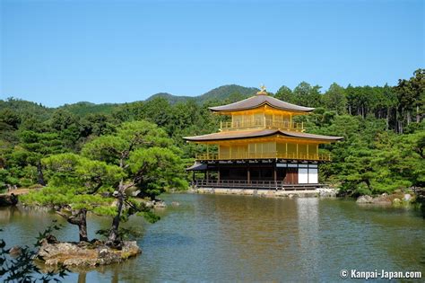
[[[314,279],[319,199],[218,196],[211,201],[219,243],[211,261],[221,259],[223,274],[234,278],[237,272],[239,279],[254,281]]]

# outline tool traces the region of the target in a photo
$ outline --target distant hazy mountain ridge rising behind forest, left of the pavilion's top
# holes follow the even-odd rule
[[[211,91],[198,95],[198,96],[178,96],[170,93],[156,93],[151,97],[146,99],[150,101],[154,98],[162,97],[165,98],[169,103],[174,104],[177,102],[186,102],[187,100],[195,100],[200,104],[209,101],[209,100],[219,100],[224,101],[229,99],[231,96],[239,96],[240,98],[246,98],[248,96],[256,94],[259,90],[256,87],[245,87],[237,84],[227,84],[221,85],[217,88],[212,89]]]

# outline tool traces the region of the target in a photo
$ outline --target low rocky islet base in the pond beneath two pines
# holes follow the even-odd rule
[[[104,243],[48,243],[39,248],[39,259],[48,266],[64,264],[70,267],[95,267],[126,261],[142,251],[137,243],[126,241],[121,250]]]

